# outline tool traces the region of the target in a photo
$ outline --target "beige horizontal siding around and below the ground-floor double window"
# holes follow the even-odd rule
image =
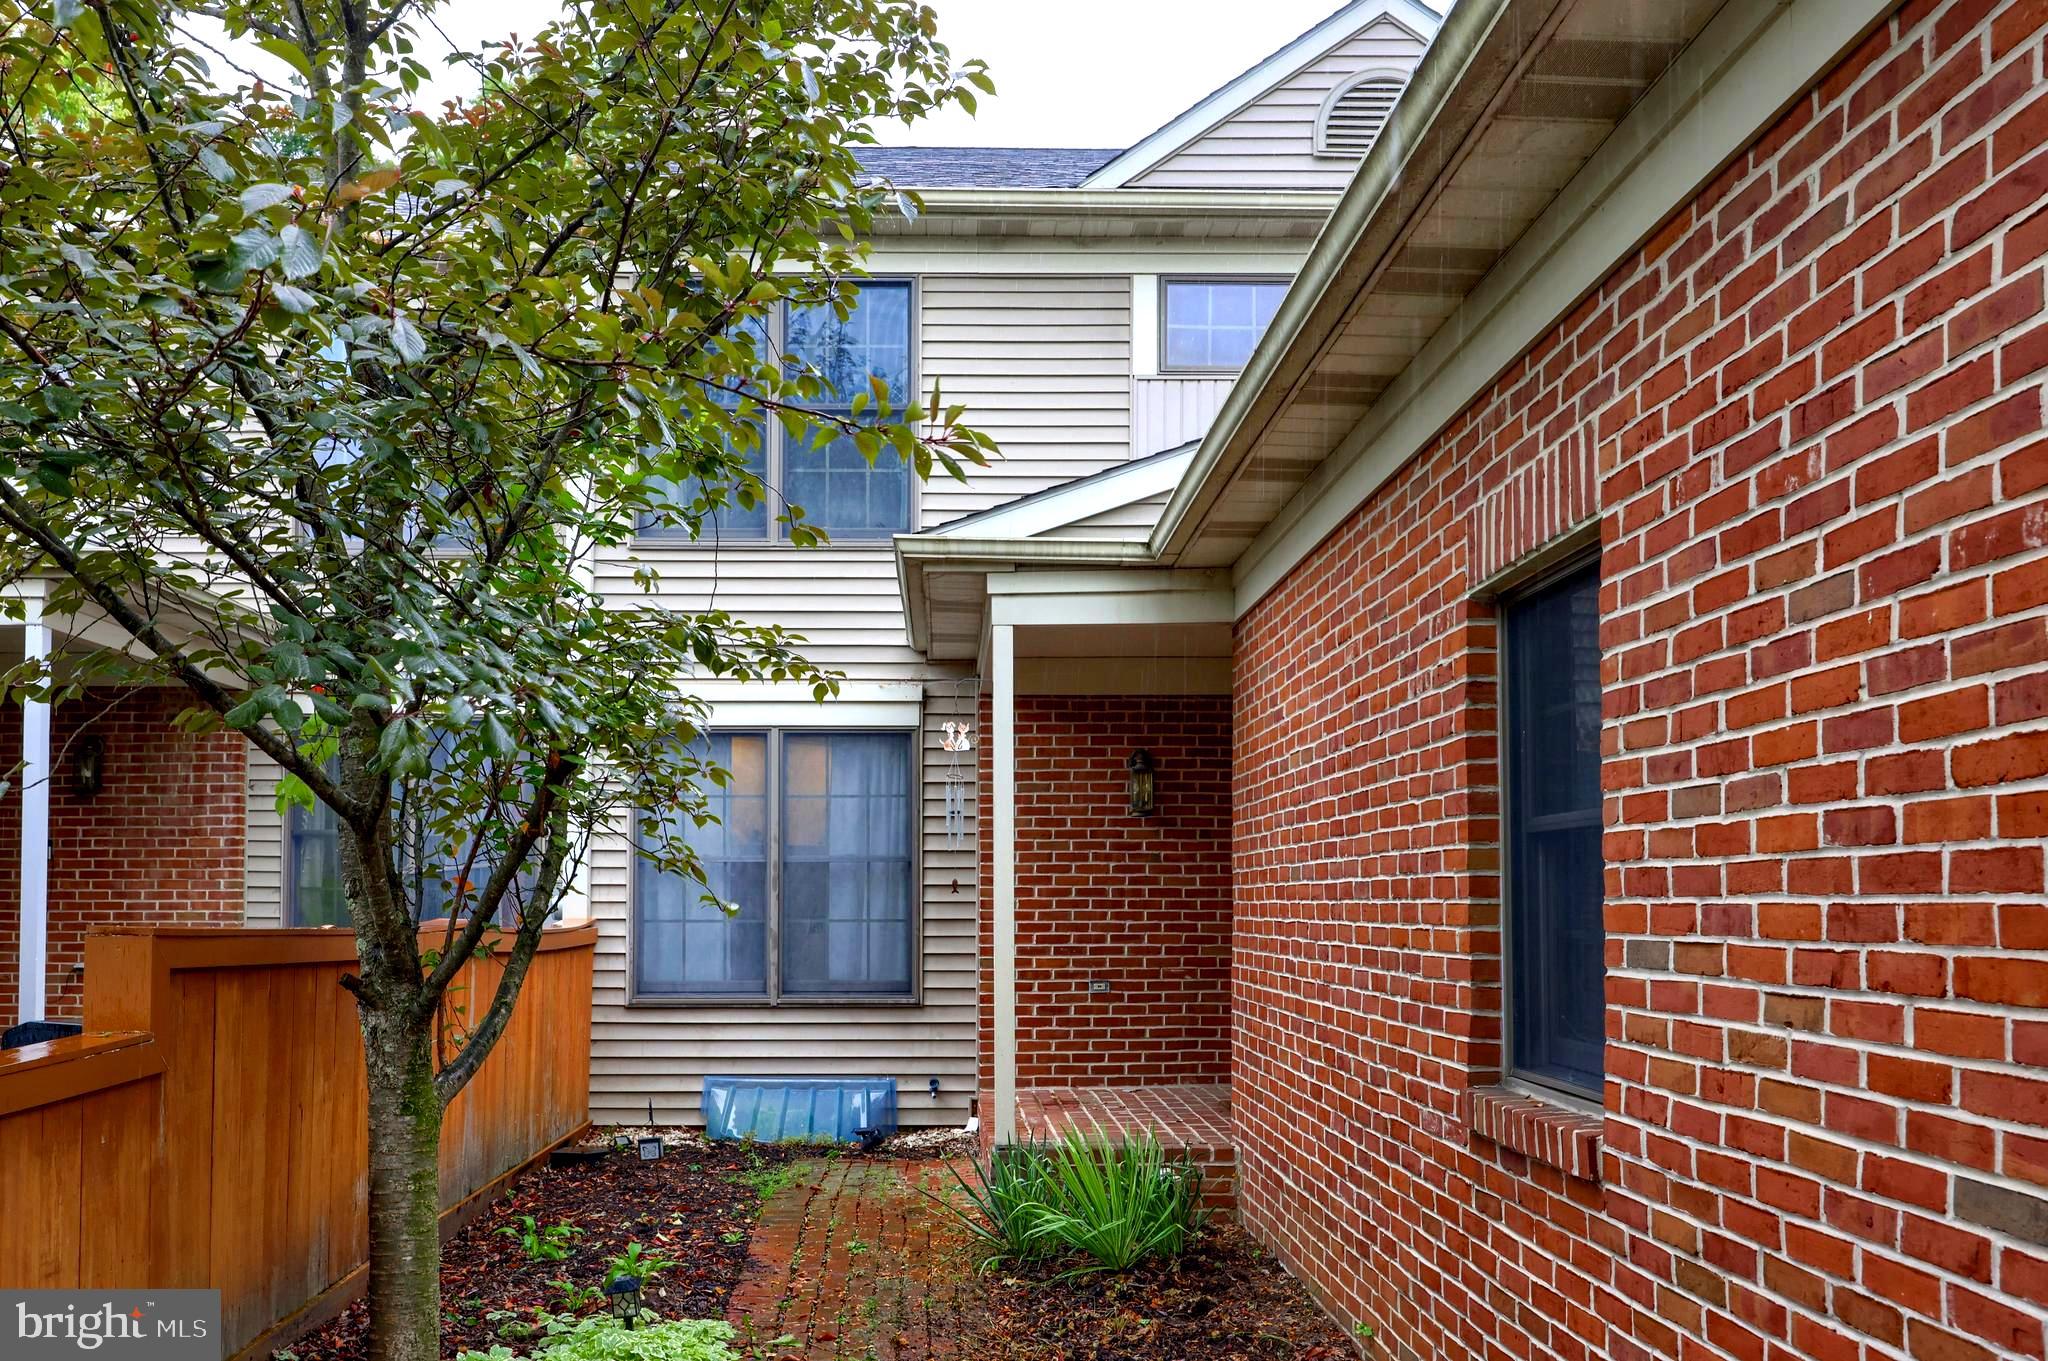
[[[973,722],[975,690],[926,686],[922,725],[922,972],[918,1005],[629,1003],[633,851],[621,835],[592,851],[598,921],[590,1117],[700,1124],[707,1074],[893,1077],[905,1126],[961,1124],[975,1087],[975,829],[946,841],[948,718]],[[973,782],[973,753],[961,757]],[[969,786],[973,790],[973,784]],[[971,794],[969,794],[971,796]],[[973,808],[973,804],[969,804]],[[932,1101],[930,1079],[940,1079]]]

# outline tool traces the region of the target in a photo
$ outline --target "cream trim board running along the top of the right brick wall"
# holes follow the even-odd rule
[[[1249,610],[1894,0],[1731,0],[1237,559]],[[1157,530],[1155,530],[1157,538]]]

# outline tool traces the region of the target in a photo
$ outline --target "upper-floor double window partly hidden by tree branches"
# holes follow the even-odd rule
[[[889,389],[897,409],[915,399],[911,372],[911,284],[909,280],[868,280],[852,313],[840,319],[831,307],[788,307],[754,334],[756,344],[784,356],[791,366],[807,366],[829,385],[813,405],[854,420],[854,399],[870,393],[870,383]],[[733,399],[737,401],[737,397]],[[872,405],[868,407],[872,411]],[[756,420],[743,450],[748,469],[768,489],[754,506],[725,503],[707,518],[707,536],[768,542],[780,538],[780,516],[803,508],[803,522],[834,540],[887,538],[911,528],[911,471],[893,448],[874,463],[854,448],[852,436],[827,438],[813,430],[791,436],[780,422]],[[641,520],[641,538],[686,538],[688,528],[664,516]]]

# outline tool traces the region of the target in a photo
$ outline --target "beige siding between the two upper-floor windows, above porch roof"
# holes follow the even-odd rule
[[[922,309],[924,389],[999,446],[965,485],[926,483],[922,528],[1130,458],[1128,274],[930,274]]]

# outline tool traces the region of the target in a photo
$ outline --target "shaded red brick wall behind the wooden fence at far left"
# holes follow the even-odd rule
[[[242,925],[244,743],[170,727],[182,690],[94,690],[51,716],[49,1019],[78,1019],[86,927],[164,921]],[[106,743],[96,798],[72,786],[68,741]],[[20,710],[0,710],[0,767],[20,759]],[[14,1023],[20,960],[20,788],[0,798],[0,1025]]]

